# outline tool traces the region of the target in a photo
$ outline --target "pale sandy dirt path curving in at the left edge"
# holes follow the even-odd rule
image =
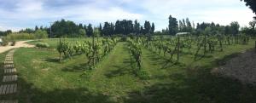
[[[30,44],[27,44],[26,42],[30,42],[32,40],[27,40],[27,41],[18,41],[16,42],[15,46],[0,46],[0,54],[5,52],[5,51],[8,51],[9,49],[15,49],[15,48],[20,48],[20,47],[26,47],[26,48],[31,48],[31,47],[34,47],[34,45],[30,45]]]

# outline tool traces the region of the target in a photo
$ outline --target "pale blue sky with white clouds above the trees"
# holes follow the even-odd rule
[[[240,0],[0,0],[0,31],[49,26],[61,19],[93,26],[149,20],[160,31],[168,26],[170,14],[177,20],[189,17],[195,24],[238,21],[241,26],[248,26],[255,15]]]

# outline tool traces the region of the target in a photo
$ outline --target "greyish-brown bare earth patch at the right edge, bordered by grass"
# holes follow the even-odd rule
[[[241,83],[256,84],[256,54],[254,50],[248,50],[227,61],[224,66],[214,68],[212,72],[238,79]]]

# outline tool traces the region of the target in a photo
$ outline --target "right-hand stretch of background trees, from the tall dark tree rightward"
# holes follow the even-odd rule
[[[255,26],[256,22],[253,22],[253,28]],[[251,24],[251,23],[250,23]],[[251,25],[252,26],[252,25]],[[220,26],[219,24],[207,23],[197,23],[195,26],[195,23],[189,20],[189,18],[186,18],[185,20],[178,20],[175,17],[172,17],[172,15],[169,16],[169,25],[165,29],[163,29],[161,32],[158,32],[159,34],[169,34],[169,35],[176,35],[177,32],[189,32],[194,35],[200,35],[201,33],[204,33],[206,29],[208,29],[209,35],[216,35],[216,34],[223,34],[223,35],[237,35],[239,33],[240,25],[237,21],[233,21],[230,23],[230,25],[227,26]],[[253,33],[252,33],[253,34]]]

